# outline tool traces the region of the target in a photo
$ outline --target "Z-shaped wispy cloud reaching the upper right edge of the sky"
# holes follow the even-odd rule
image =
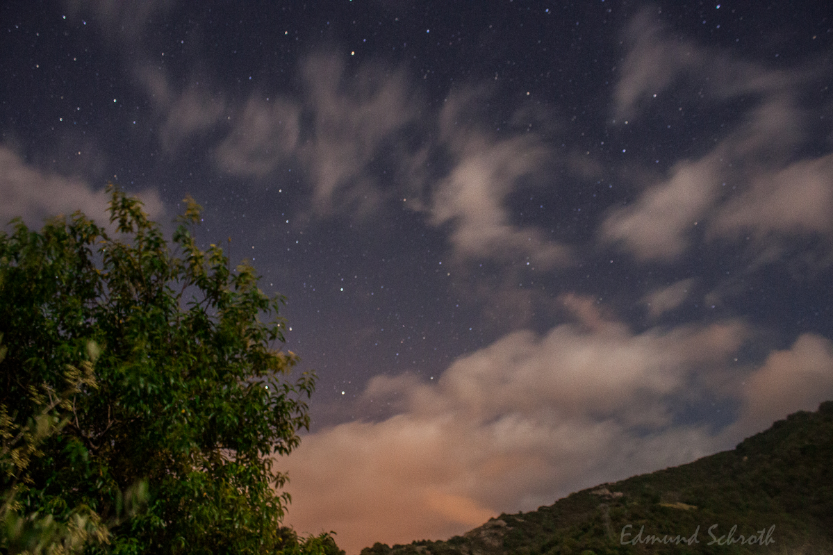
[[[598,231],[601,243],[616,244],[641,262],[667,263],[697,243],[747,234],[758,251],[764,242],[777,251],[779,238],[831,237],[831,154],[794,158],[808,136],[798,98],[809,72],[781,72],[677,40],[649,12],[634,19],[628,37],[618,113],[633,117],[649,109],[646,98],[681,80],[699,82],[701,97],[712,105],[744,96],[747,107],[711,151],[676,163],[635,202],[611,210]]]

